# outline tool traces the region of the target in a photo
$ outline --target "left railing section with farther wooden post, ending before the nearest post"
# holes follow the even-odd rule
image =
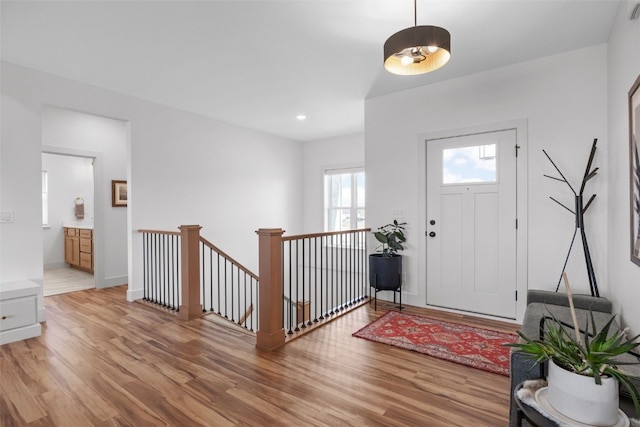
[[[143,234],[143,300],[185,320],[213,312],[257,331],[258,276],[200,236],[201,228],[139,230]]]

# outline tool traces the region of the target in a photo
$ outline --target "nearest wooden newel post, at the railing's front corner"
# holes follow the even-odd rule
[[[285,331],[282,320],[282,234],[281,228],[261,228],[256,233],[258,242],[258,302],[260,322],[256,345],[275,350],[284,345]]]

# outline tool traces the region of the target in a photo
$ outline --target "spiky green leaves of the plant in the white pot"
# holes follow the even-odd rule
[[[574,314],[573,307],[571,308],[572,314]],[[578,330],[576,330],[574,337],[567,332],[563,323],[555,316],[552,315],[551,318],[542,339],[531,339],[518,331],[518,335],[524,342],[505,345],[517,348],[538,363],[552,361],[566,371],[593,377],[597,385],[602,385],[603,379],[615,378],[629,392],[635,410],[640,414],[640,394],[631,381],[631,378],[635,377],[619,368],[619,366],[634,364],[634,362],[622,362],[616,359],[640,346],[638,340],[640,334],[633,338],[627,338],[625,331],[620,329],[610,334],[615,315],[600,330],[597,330],[593,313],[590,312],[583,342]],[[573,318],[575,323],[575,316]],[[589,327],[589,323],[591,323],[591,327]],[[589,334],[589,330],[593,331],[593,335]],[[551,380],[549,383],[551,388]],[[615,391],[617,393],[617,388]],[[617,405],[615,410],[617,411]]]

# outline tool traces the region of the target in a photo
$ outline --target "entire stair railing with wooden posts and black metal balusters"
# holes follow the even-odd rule
[[[215,313],[273,350],[367,299],[369,228],[286,237],[280,228],[259,229],[259,277],[201,237],[201,228],[139,230],[143,300],[185,320]]]

